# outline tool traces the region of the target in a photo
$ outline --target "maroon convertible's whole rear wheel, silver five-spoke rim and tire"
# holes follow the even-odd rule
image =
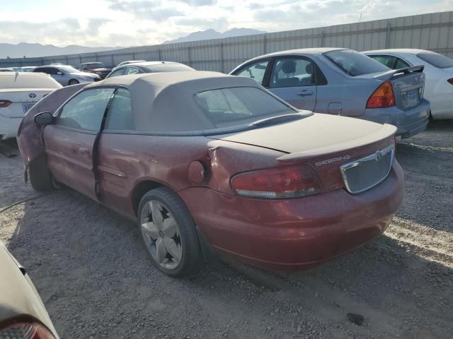
[[[184,278],[200,270],[202,249],[195,222],[173,191],[158,187],[145,194],[139,203],[137,225],[156,268],[173,278]]]

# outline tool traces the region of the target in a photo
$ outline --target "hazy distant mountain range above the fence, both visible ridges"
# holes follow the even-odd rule
[[[263,30],[254,30],[252,28],[233,28],[226,32],[217,32],[217,30],[202,30],[200,32],[193,32],[185,37],[179,37],[175,40],[163,42],[164,44],[171,44],[174,42],[188,42],[196,40],[209,40],[209,39],[222,39],[223,37],[240,37],[243,35],[254,35],[265,33]],[[64,55],[64,54],[79,54],[90,52],[101,52],[113,49],[121,49],[124,47],[86,47],[70,44],[67,47],[58,47],[53,44],[30,44],[28,42],[20,42],[18,44],[0,43],[0,59],[22,58],[23,56],[31,57],[47,57],[51,55]]]

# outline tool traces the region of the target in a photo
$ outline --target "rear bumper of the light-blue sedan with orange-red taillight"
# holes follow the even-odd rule
[[[417,107],[403,111],[398,107],[383,109],[365,109],[362,119],[378,122],[379,124],[391,124],[396,126],[396,136],[409,138],[426,129],[430,119],[430,102],[423,100]]]

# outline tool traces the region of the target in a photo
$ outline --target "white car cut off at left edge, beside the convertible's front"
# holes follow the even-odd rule
[[[25,113],[62,85],[44,73],[0,73],[0,140],[15,138]]]

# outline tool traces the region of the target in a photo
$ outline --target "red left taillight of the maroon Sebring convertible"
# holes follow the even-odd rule
[[[299,198],[321,192],[318,178],[308,165],[243,172],[231,178],[231,188],[250,198]]]

